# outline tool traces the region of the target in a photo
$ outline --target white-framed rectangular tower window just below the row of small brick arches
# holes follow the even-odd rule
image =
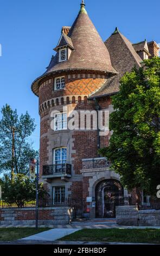
[[[54,131],[67,129],[67,113],[54,114]]]

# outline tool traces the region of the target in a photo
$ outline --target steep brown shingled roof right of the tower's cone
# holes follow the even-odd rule
[[[90,99],[117,93],[119,91],[120,78],[126,72],[131,72],[134,66],[139,68],[143,62],[135,51],[135,48],[133,48],[132,43],[118,31],[118,28],[105,41],[105,45],[110,53],[112,65],[118,74],[107,79],[104,86],[92,94]]]

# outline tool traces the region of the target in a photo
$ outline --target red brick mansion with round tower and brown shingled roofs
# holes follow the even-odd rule
[[[69,113],[112,113],[111,96],[118,93],[120,78],[142,66],[144,59],[159,56],[159,46],[146,40],[132,44],[117,27],[104,42],[82,1],[73,25],[62,27],[54,51],[47,70],[31,84],[39,97],[41,118],[40,181],[55,205],[66,198],[81,198],[82,212],[89,212],[91,218],[115,217],[113,204],[107,202],[114,194],[129,192],[111,163],[99,155],[112,131],[100,136],[92,124],[87,130],[86,122],[84,129],[68,129]],[[130,194],[136,198],[136,188]]]

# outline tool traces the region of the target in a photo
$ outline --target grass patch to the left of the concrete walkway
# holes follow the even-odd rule
[[[0,228],[0,241],[17,240],[46,230],[49,228]]]

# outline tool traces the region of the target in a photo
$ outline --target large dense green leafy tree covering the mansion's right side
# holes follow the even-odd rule
[[[100,153],[112,162],[129,190],[139,187],[156,194],[160,184],[160,58],[144,60],[120,81],[112,96],[110,115],[113,135]]]

